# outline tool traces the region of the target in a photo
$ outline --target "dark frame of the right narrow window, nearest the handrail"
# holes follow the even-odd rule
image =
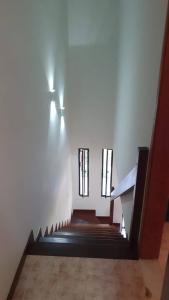
[[[106,176],[106,187],[105,187],[105,195],[103,194],[103,161],[104,161],[104,150],[107,150],[107,155],[106,155],[106,173],[107,173],[107,162],[108,162],[108,151],[111,151],[111,174],[110,174],[110,195],[107,195],[107,176]],[[102,149],[102,171],[101,171],[101,197],[104,198],[110,198],[111,197],[111,192],[112,192],[112,178],[113,178],[113,149],[110,148],[103,148]]]

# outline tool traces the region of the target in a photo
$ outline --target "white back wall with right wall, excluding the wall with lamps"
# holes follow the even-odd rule
[[[167,0],[68,4],[73,207],[108,215],[109,201],[100,197],[101,149],[115,150],[116,185],[135,165],[137,147],[150,145]],[[79,147],[90,148],[85,199],[78,196]],[[122,197],[128,232],[132,198]]]

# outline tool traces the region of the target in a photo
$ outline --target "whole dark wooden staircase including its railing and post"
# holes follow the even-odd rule
[[[95,210],[74,210],[69,226],[45,237],[41,231],[36,241],[30,239],[26,248],[29,255],[70,257],[138,259],[139,233],[146,182],[148,149],[138,148],[138,162],[111,194],[110,217],[97,217]],[[112,225],[113,206],[116,198],[132,191],[133,218],[130,240],[124,238]],[[135,191],[135,192],[134,192]],[[107,224],[105,224],[107,222]],[[101,224],[102,223],[102,224]],[[104,223],[104,224],[103,224]],[[48,232],[48,231],[46,231]]]

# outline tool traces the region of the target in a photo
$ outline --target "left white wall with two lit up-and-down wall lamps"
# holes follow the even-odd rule
[[[0,5],[1,300],[30,230],[36,233],[71,214],[67,102],[65,128],[59,116],[51,123],[48,87],[54,78],[56,95],[66,93],[66,17],[64,0]]]

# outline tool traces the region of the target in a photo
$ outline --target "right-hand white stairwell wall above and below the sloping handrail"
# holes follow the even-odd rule
[[[150,146],[156,111],[167,0],[120,0],[118,85],[114,132],[121,180],[137,160],[137,147]],[[132,196],[123,197],[127,231]]]

